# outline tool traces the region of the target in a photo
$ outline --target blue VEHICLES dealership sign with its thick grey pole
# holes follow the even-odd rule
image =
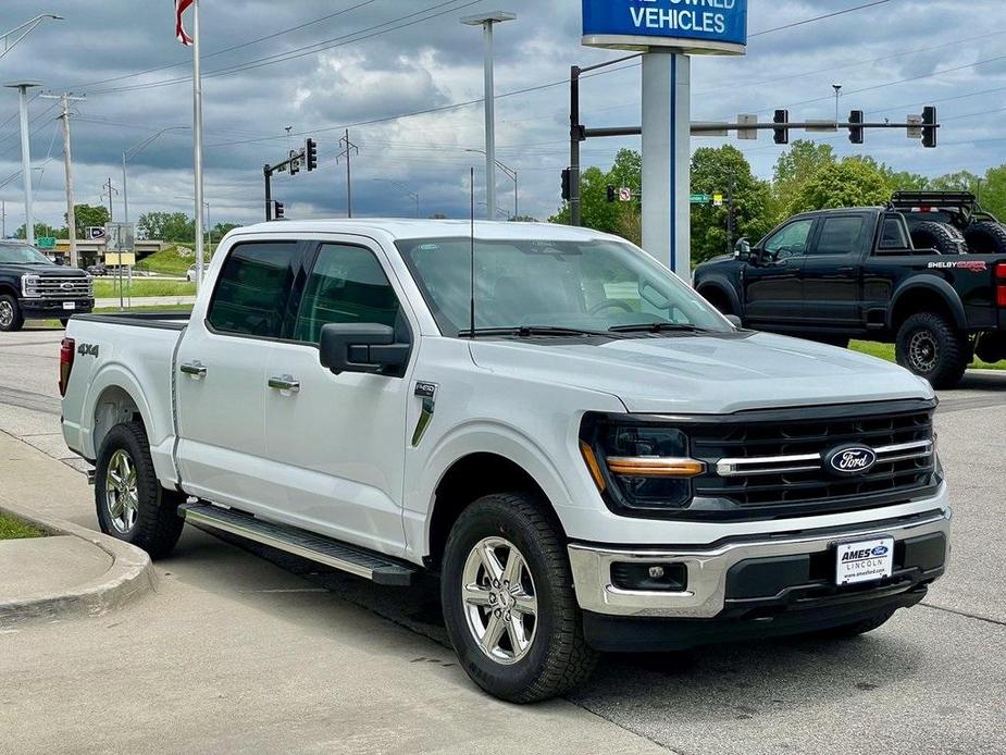
[[[643,247],[691,274],[691,59],[744,54],[747,0],[583,0],[583,44],[643,52]]]

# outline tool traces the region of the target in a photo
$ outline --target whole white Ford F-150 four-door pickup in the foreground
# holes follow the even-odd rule
[[[591,231],[240,228],[191,317],[74,317],[60,369],[103,532],[159,557],[188,520],[377,583],[431,570],[505,700],[598,651],[860,634],[948,555],[927,383],[741,330]]]

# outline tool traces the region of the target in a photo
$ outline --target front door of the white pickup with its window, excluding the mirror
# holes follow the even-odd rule
[[[290,524],[401,555],[411,367],[405,376],[335,375],[318,344],[328,323],[388,325],[412,343],[418,331],[376,245],[320,243],[314,255],[293,339],[275,345],[266,369],[266,450],[284,496],[273,506]]]

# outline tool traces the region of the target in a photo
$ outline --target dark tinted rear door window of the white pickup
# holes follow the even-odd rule
[[[234,247],[210,302],[210,325],[222,333],[281,337],[296,256],[295,242]]]

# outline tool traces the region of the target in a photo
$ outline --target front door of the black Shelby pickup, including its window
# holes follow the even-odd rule
[[[815,220],[795,220],[769,236],[757,264],[744,268],[744,321],[755,327],[798,324],[804,313],[800,270]]]

